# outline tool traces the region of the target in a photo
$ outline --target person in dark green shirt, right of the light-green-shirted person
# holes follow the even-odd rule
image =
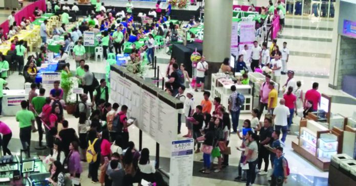
[[[44,92],[46,89],[40,88],[39,89],[39,96],[32,98],[32,105],[35,112],[37,129],[38,129],[38,144],[42,146],[42,138],[43,138],[43,129],[42,129],[42,121],[39,114],[42,112],[42,107],[46,104],[46,97],[44,97]]]

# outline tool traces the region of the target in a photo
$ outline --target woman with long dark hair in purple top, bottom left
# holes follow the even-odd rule
[[[68,155],[68,171],[72,177],[80,178],[80,174],[83,172],[80,164],[80,153],[78,142],[73,141],[69,145]],[[80,184],[79,184],[80,185]]]

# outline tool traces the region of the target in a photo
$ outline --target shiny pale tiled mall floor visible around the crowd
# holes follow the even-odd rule
[[[0,11],[0,21],[7,18],[10,11]],[[350,97],[340,90],[334,90],[328,87],[328,74],[330,66],[330,53],[331,53],[331,35],[332,35],[332,20],[320,20],[317,18],[300,18],[300,17],[287,17],[285,20],[286,27],[280,34],[277,44],[282,46],[282,43],[286,41],[288,48],[291,51],[290,62],[288,62],[288,69],[296,71],[296,79],[302,81],[302,89],[305,92],[311,88],[313,82],[319,82],[319,91],[324,94],[331,95],[336,99],[333,99],[331,111],[334,113],[343,113],[345,116],[351,116],[353,110],[356,109],[355,98]],[[159,58],[167,59],[169,56],[164,52],[158,54]],[[71,66],[75,66],[73,60],[70,61]],[[167,60],[168,62],[168,60]],[[95,73],[104,73],[104,62],[90,61],[88,63],[91,69],[94,69]],[[166,64],[158,64],[161,69],[166,68]],[[147,77],[152,77],[153,71],[147,72]],[[22,89],[23,77],[18,76],[16,73],[9,77],[10,89]],[[286,81],[286,76],[282,76],[281,82]],[[203,99],[201,92],[195,96],[195,104]],[[212,98],[211,98],[212,99]],[[71,115],[65,115],[65,119],[69,121],[70,127],[77,130],[78,120]],[[241,114],[240,120],[251,119],[250,114]],[[2,117],[1,121],[7,123],[12,132],[13,139],[10,141],[10,150],[14,153],[19,152],[19,136],[18,136],[18,123],[14,117]],[[294,122],[298,123],[299,118],[295,118]],[[241,123],[241,122],[240,122]],[[184,124],[182,126],[185,126]],[[139,142],[139,130],[135,126],[129,128],[130,140],[138,144]],[[182,133],[187,132],[185,127],[182,127]],[[181,136],[180,136],[181,137]],[[182,138],[182,137],[181,137]],[[32,141],[36,144],[38,134],[32,134]],[[288,183],[285,185],[327,185],[328,173],[323,172],[310,164],[310,162],[300,155],[296,154],[291,148],[291,142],[296,140],[296,136],[288,135],[286,141],[285,157],[288,159],[291,176],[288,179]],[[155,142],[148,135],[143,134],[143,147],[150,149],[150,155],[155,155]],[[236,150],[236,146],[241,144],[240,139],[236,135],[231,136],[230,146],[232,149],[232,155],[230,155],[230,166],[220,173],[211,173],[210,175],[203,175],[197,170],[201,168],[202,154],[194,154],[194,172],[193,172],[193,185],[244,185],[245,183],[234,182],[234,177],[237,176],[237,165],[240,157],[240,152]],[[48,152],[41,152],[42,155],[46,155]],[[160,149],[160,161],[161,167],[165,171],[169,171],[166,167],[169,161],[169,149]],[[152,158],[153,160],[153,158]],[[215,162],[216,163],[216,162]],[[90,180],[86,178],[87,164],[82,164],[84,172],[82,173],[82,185],[92,185]],[[169,165],[169,164],[168,164]],[[263,166],[262,166],[263,168]],[[257,176],[257,185],[269,185],[265,176]]]

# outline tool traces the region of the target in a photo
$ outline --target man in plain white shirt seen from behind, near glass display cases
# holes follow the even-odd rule
[[[281,141],[283,143],[285,142],[285,137],[287,136],[287,129],[288,129],[287,118],[291,114],[289,108],[286,107],[284,105],[284,103],[285,103],[285,100],[282,98],[279,101],[279,105],[273,111],[273,119],[275,122],[275,128],[278,131],[282,130],[283,135],[282,135]]]

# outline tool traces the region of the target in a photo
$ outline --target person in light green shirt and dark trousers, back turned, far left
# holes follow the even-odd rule
[[[35,123],[35,115],[27,110],[27,101],[21,101],[22,110],[16,112],[16,121],[20,127],[20,141],[24,150],[30,153],[31,145],[31,127]]]

